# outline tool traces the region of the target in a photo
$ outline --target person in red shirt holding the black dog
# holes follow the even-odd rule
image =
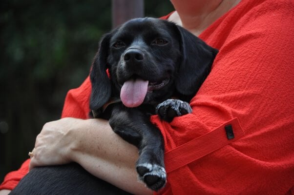
[[[152,116],[165,141],[168,182],[157,194],[294,194],[294,2],[292,0],[171,0],[163,19],[219,49],[190,105],[171,123]],[[137,149],[88,119],[90,81],[67,94],[62,119],[46,123],[31,159],[0,186],[7,194],[36,166],[78,162],[132,194]],[[124,179],[120,179],[124,177]],[[7,189],[7,191],[3,191]]]

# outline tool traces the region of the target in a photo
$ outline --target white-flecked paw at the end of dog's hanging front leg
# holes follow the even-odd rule
[[[137,172],[139,174],[139,179],[151,190],[158,191],[166,184],[167,173],[162,166],[149,163],[138,164]]]

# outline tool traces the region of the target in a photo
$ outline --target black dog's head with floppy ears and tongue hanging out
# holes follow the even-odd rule
[[[195,95],[216,54],[167,20],[129,20],[100,42],[90,73],[90,109],[98,110],[111,95],[120,96],[127,107],[160,102],[175,92]]]

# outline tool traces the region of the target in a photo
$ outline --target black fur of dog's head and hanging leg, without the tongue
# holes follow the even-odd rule
[[[149,83],[168,80],[164,87],[150,90],[138,107],[127,108],[119,102],[107,110],[109,114],[95,115],[107,116],[113,131],[138,147],[139,178],[157,191],[166,182],[164,145],[149,116],[155,114],[159,103],[172,96],[189,101],[208,76],[217,51],[184,28],[152,18],[130,20],[105,35],[100,44],[90,74],[90,108],[94,113],[102,113],[101,107],[110,97],[118,99],[128,79],[142,78]]]

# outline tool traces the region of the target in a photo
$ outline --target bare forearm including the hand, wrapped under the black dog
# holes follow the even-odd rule
[[[103,119],[62,118],[46,123],[30,153],[36,166],[77,162],[89,173],[132,194],[151,194],[137,181],[138,150]]]

